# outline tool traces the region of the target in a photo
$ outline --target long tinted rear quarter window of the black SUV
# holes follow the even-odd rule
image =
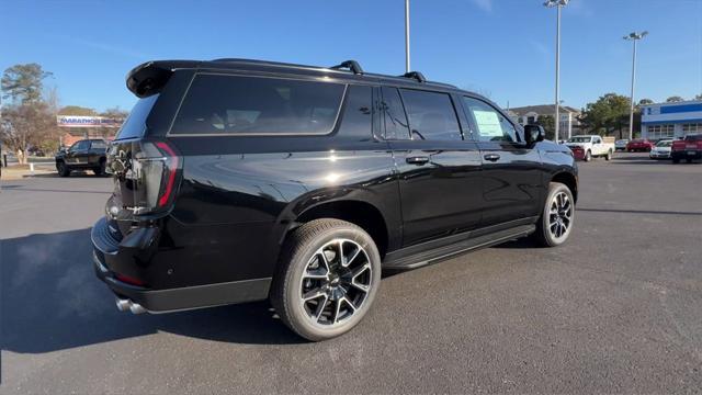
[[[325,134],[344,86],[280,78],[199,75],[172,134]]]

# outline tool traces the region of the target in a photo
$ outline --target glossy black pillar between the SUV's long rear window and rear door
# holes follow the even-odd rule
[[[347,102],[339,126],[340,136],[353,136],[364,139],[373,137],[373,91],[371,87],[350,86]]]

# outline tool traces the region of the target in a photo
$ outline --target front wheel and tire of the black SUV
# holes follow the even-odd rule
[[[556,208],[555,212],[553,211],[554,207]],[[574,225],[575,200],[573,199],[573,192],[565,184],[551,182],[543,212],[536,224],[535,241],[544,247],[561,246],[570,236]]]

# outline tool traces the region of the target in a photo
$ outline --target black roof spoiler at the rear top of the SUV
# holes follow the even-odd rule
[[[159,93],[173,71],[179,68],[193,67],[190,60],[147,61],[127,74],[127,89],[137,98],[146,98]]]

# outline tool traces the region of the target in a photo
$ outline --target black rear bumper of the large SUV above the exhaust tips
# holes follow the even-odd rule
[[[105,218],[92,228],[93,267],[95,275],[102,280],[121,300],[129,300],[149,313],[166,313],[226,304],[262,301],[268,297],[271,278],[231,281],[214,284],[152,290],[117,280],[116,273],[134,275],[139,264],[134,248],[124,247],[112,238]],[[152,236],[156,237],[156,236]],[[151,241],[151,240],[147,240]],[[156,248],[156,246],[150,246]],[[123,270],[132,268],[133,271]],[[115,271],[116,270],[116,271]]]

